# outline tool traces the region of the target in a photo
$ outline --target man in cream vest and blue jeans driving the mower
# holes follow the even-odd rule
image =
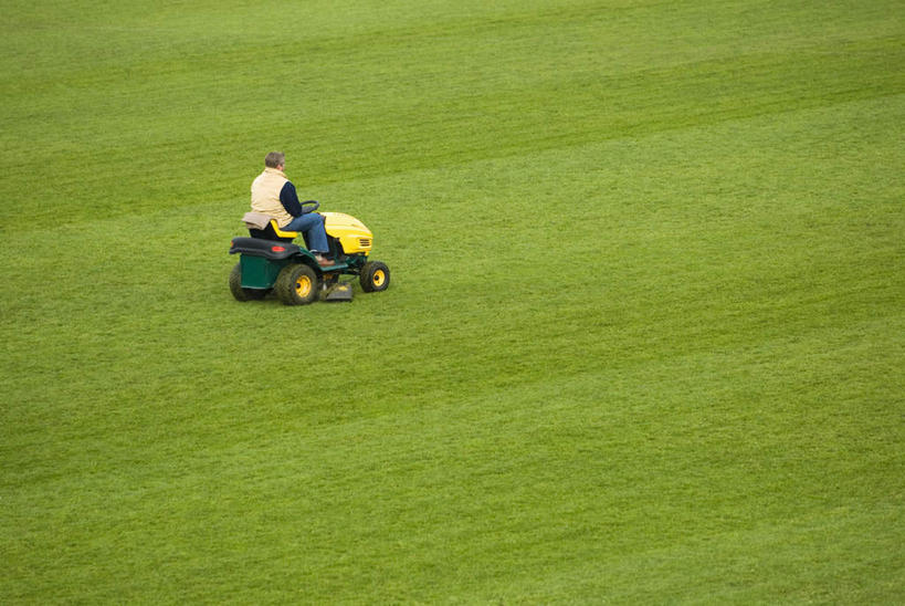
[[[252,182],[252,210],[270,215],[276,219],[276,224],[282,230],[304,232],[317,262],[322,267],[333,265],[333,261],[324,257],[330,249],[324,229],[324,217],[317,212],[302,212],[295,186],[283,173],[285,167],[285,154],[267,154],[264,158],[264,171]]]

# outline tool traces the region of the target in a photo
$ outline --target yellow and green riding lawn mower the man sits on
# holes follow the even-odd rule
[[[305,212],[314,212],[319,202],[305,202]],[[313,207],[313,208],[312,208]],[[357,275],[365,292],[380,292],[390,285],[390,270],[380,261],[370,261],[373,234],[349,215],[324,212],[329,251],[324,263],[305,245],[293,243],[297,231],[283,231],[272,217],[246,212],[242,220],[250,238],[233,238],[230,254],[239,263],[230,274],[230,291],[236,301],[264,299],[273,291],[286,305],[306,305],[324,301],[351,301],[349,282],[343,275]]]

